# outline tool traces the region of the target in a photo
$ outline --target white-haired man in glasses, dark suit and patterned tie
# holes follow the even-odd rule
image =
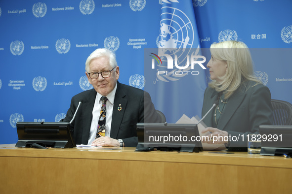
[[[72,97],[62,120],[70,122],[82,102],[71,123],[76,144],[136,147],[136,124],[159,122],[150,95],[118,82],[120,68],[115,54],[108,49],[92,52],[85,70],[94,89]]]

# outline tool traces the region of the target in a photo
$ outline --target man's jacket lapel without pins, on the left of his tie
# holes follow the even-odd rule
[[[83,102],[82,106],[82,112],[83,112],[83,125],[81,126],[83,128],[83,136],[82,136],[82,142],[88,142],[89,139],[89,131],[90,131],[90,126],[91,126],[91,121],[92,121],[92,110],[93,106],[95,103],[95,97],[96,97],[96,91],[92,89],[92,93],[90,93],[87,97],[86,100]]]

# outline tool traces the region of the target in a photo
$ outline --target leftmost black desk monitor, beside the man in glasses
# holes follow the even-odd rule
[[[66,122],[17,122],[18,142],[16,147],[31,147],[38,144],[43,147],[73,148],[70,124]]]

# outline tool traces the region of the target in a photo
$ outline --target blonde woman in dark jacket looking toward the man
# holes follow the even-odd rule
[[[210,52],[207,67],[212,81],[204,94],[202,116],[215,101],[218,105],[205,118],[208,128],[202,132],[209,131],[210,137],[221,136],[207,143],[224,143],[228,151],[247,151],[247,135],[258,133],[259,125],[272,124],[270,90],[253,75],[250,50],[245,43],[213,43]]]

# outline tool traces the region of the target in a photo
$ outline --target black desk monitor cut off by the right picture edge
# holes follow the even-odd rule
[[[260,125],[260,155],[292,155],[292,126]]]

